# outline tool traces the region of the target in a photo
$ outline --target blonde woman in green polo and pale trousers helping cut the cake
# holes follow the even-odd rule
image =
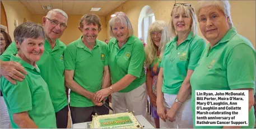
[[[111,94],[115,113],[134,111],[146,116],[147,90],[143,43],[133,35],[132,24],[123,12],[111,15],[108,63],[111,83],[96,93],[97,101]]]

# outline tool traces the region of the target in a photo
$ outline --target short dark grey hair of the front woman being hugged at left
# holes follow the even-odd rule
[[[15,41],[21,44],[26,38],[45,39],[45,32],[43,27],[34,22],[24,22],[15,28],[13,36]]]

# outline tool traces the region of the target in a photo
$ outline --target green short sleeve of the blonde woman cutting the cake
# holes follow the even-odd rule
[[[144,62],[146,58],[143,44],[141,44],[141,46],[142,49],[134,49],[132,51],[128,67],[128,74],[135,77],[141,77],[142,68],[144,67]]]

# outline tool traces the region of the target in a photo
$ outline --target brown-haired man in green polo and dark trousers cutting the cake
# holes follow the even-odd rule
[[[106,115],[108,108],[94,101],[94,93],[109,87],[108,46],[97,40],[100,18],[85,14],[78,27],[82,36],[70,43],[64,53],[65,82],[71,89],[70,110],[73,123],[88,122],[91,115]]]

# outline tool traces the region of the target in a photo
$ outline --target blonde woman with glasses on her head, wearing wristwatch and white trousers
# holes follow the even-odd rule
[[[196,16],[190,4],[174,4],[170,32],[174,39],[165,46],[157,80],[160,128],[192,128],[189,80],[206,43],[197,35]]]

